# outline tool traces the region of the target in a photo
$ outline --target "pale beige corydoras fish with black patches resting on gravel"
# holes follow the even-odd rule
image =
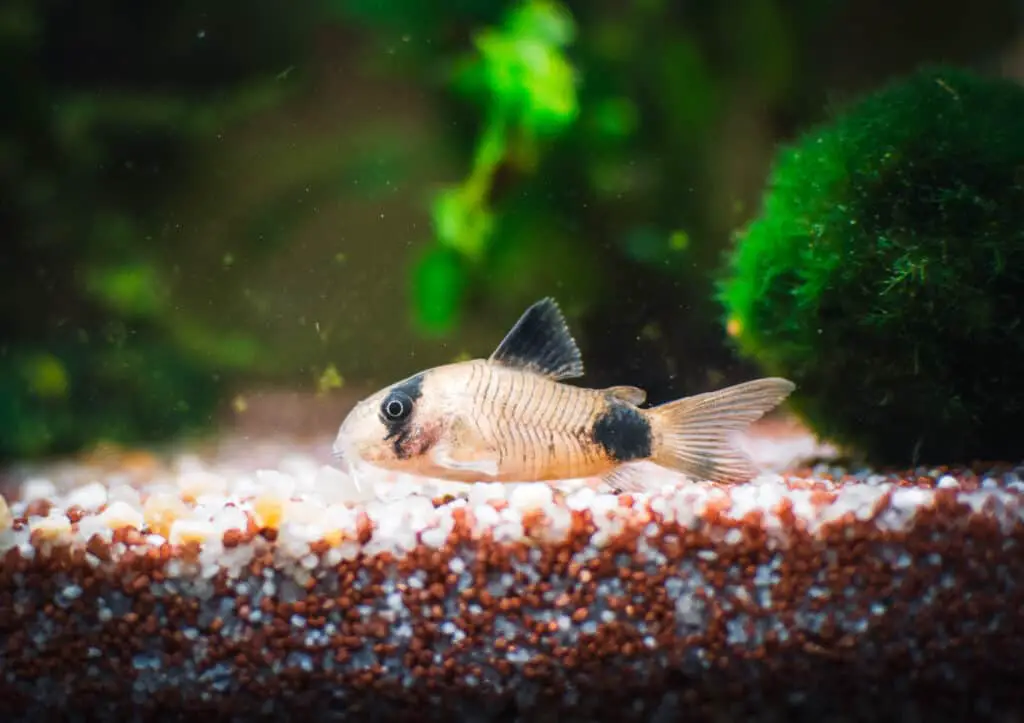
[[[369,465],[455,482],[596,479],[622,493],[645,487],[643,463],[734,483],[758,474],[735,433],[796,388],[766,377],[644,407],[644,389],[570,381],[583,376],[565,316],[545,297],[487,358],[422,370],[356,402],[332,452],[356,484]]]

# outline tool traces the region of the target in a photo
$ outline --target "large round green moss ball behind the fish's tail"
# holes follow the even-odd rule
[[[865,461],[1024,458],[1024,88],[923,69],[782,148],[720,300]]]

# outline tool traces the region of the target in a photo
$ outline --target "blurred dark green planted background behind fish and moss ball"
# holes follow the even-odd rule
[[[8,0],[0,458],[485,355],[543,295],[588,385],[746,378],[713,288],[777,144],[1024,76],[1017,5]]]

